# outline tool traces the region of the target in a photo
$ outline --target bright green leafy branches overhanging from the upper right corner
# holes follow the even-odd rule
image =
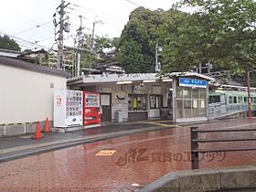
[[[184,0],[179,5],[195,9],[176,16],[162,27],[165,70],[170,65],[187,68],[210,60],[236,72],[255,67],[256,3],[253,0]],[[177,6],[180,8],[181,6]]]

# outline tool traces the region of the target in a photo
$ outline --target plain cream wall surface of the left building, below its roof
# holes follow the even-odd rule
[[[63,89],[63,77],[0,65],[0,124],[53,120],[53,94]]]

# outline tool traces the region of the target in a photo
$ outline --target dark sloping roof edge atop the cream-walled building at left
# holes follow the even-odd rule
[[[66,71],[62,71],[59,69],[51,69],[51,68],[47,68],[37,64],[28,63],[22,60],[10,59],[10,58],[5,58],[1,56],[0,56],[0,65],[12,67],[12,68],[18,68],[18,69],[27,69],[35,72],[45,73],[49,75],[56,75],[56,76],[65,77],[65,78],[70,77],[69,72],[66,72]]]

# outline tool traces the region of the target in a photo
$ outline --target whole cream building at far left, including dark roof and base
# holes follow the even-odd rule
[[[67,89],[69,73],[0,57],[0,136],[35,132],[53,120],[53,95]],[[43,127],[43,126],[41,126]]]

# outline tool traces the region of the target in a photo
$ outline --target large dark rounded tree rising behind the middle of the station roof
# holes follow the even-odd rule
[[[163,10],[139,7],[130,15],[117,45],[117,57],[129,73],[155,71],[156,30]]]

